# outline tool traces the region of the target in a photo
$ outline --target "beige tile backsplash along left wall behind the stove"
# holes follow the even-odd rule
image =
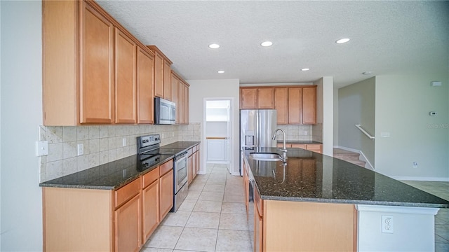
[[[48,155],[39,157],[40,181],[135,155],[136,137],[146,134],[161,134],[161,146],[201,141],[201,124],[39,126],[39,141],[48,141]],[[83,155],[77,155],[79,144]]]

